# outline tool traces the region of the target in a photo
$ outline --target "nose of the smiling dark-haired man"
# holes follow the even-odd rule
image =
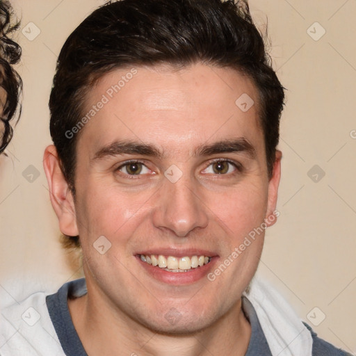
[[[178,237],[188,237],[194,229],[207,227],[208,209],[188,179],[182,177],[174,184],[167,179],[157,194],[152,214],[155,227],[169,229]]]

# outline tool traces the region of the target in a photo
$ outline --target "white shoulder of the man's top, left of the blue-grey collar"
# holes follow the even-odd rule
[[[45,292],[33,293],[22,302],[1,309],[1,356],[64,355],[49,317],[46,297]]]

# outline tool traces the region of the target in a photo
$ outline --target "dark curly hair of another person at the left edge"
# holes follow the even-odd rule
[[[19,22],[13,24],[13,8],[8,1],[0,0],[0,90],[4,100],[1,101],[0,129],[3,134],[0,137],[0,153],[6,149],[11,138],[13,128],[10,120],[17,120],[21,113],[19,96],[22,92],[22,80],[13,69],[13,65],[19,63],[21,47],[10,36],[19,28]],[[0,131],[0,133],[1,133]]]

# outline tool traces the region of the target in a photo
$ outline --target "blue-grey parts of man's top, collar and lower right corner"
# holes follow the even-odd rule
[[[67,305],[68,298],[78,298],[86,294],[86,280],[74,280],[64,284],[57,293],[47,296],[49,316],[56,330],[60,345],[67,356],[88,356],[75,330]],[[261,324],[250,301],[242,298],[243,312],[251,325],[251,337],[245,356],[272,356]],[[343,350],[334,348],[330,343],[319,339],[309,325],[312,333],[313,356],[351,356]]]

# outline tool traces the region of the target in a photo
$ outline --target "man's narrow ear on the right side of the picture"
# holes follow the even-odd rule
[[[280,212],[276,211],[278,186],[280,186],[281,178],[281,160],[282,152],[275,152],[275,163],[273,163],[273,175],[268,182],[268,203],[265,217],[265,223],[267,226],[272,226],[277,221],[277,217],[280,216]]]

